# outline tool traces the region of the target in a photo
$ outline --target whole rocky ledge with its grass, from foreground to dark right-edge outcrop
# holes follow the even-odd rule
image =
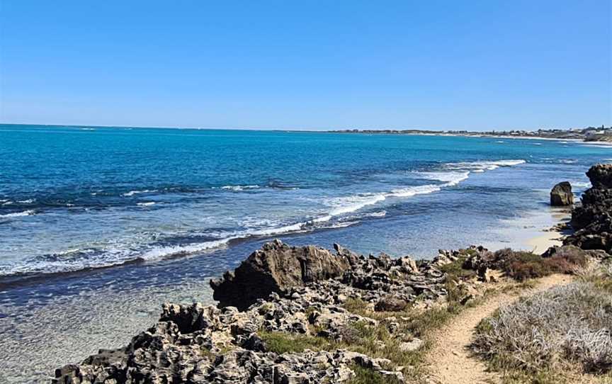
[[[472,246],[415,261],[275,240],[210,282],[219,305],[166,303],[128,346],[58,368],[52,383],[349,383],[364,370],[404,383],[424,345],[420,313],[466,305],[503,273],[528,278],[608,257],[612,168],[588,175],[593,188],[572,214],[579,230],[542,256]]]

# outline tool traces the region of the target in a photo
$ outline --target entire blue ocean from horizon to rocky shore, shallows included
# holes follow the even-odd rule
[[[523,247],[612,147],[561,140],[0,125],[0,381],[126,344],[263,242],[431,258]],[[26,367],[26,368],[24,368]]]

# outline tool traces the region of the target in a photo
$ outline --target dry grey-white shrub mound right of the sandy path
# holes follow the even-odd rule
[[[532,373],[612,368],[612,296],[577,282],[521,299],[482,320],[473,344],[494,368]],[[534,381],[535,383],[535,381]]]

